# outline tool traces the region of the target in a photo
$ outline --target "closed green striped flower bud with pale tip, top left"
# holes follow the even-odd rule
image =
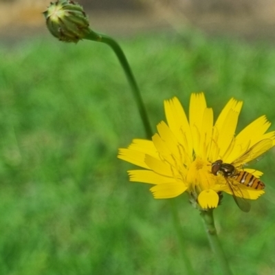
[[[48,30],[61,41],[77,43],[90,32],[83,8],[74,1],[58,0],[43,14]]]

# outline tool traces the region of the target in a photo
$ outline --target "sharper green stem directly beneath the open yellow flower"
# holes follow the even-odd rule
[[[219,265],[221,266],[223,275],[232,275],[228,261],[226,260],[225,254],[223,252],[223,248],[221,248],[217,230],[214,226],[213,209],[201,211],[201,217],[203,218],[204,225],[206,227],[206,233],[208,234],[211,248],[216,256],[217,261],[219,262]]]

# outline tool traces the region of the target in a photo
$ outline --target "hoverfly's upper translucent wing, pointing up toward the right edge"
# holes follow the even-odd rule
[[[239,167],[243,165],[244,163],[247,164],[248,162],[251,162],[252,159],[256,159],[257,157],[260,157],[265,153],[267,150],[272,148],[273,142],[270,139],[261,140],[260,142],[257,142],[254,144],[251,148],[248,149],[241,157],[238,157],[234,162],[232,162],[232,165],[235,167]]]

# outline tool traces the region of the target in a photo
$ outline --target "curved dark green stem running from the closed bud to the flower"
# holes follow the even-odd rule
[[[129,82],[129,85],[131,86],[131,89],[133,91],[133,96],[135,98],[135,102],[137,103],[137,108],[140,112],[140,117],[142,118],[142,122],[146,132],[146,137],[148,138],[148,140],[151,140],[153,136],[153,132],[151,130],[150,122],[148,120],[148,115],[144,107],[142,96],[140,94],[140,89],[137,86],[137,82],[135,81],[135,77],[133,76],[131,67],[129,66],[129,63],[120,45],[118,45],[118,43],[111,37],[104,34],[97,34],[96,32],[93,32],[93,31],[87,34],[87,36],[85,36],[85,39],[105,43],[112,48],[113,52],[115,52],[115,55],[118,57],[118,60],[120,61],[120,64],[124,69],[124,73],[126,74],[126,78]]]

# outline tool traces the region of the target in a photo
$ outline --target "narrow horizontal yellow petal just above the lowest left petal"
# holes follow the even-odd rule
[[[171,177],[164,177],[151,170],[129,170],[130,181],[144,182],[145,184],[165,184],[173,181]]]

